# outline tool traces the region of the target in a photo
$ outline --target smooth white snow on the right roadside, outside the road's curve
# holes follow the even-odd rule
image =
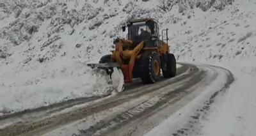
[[[211,108],[211,114],[201,119],[201,135],[255,135],[256,123],[256,57],[246,61],[223,64],[234,73],[234,84],[219,103]],[[238,64],[239,63],[239,64]]]

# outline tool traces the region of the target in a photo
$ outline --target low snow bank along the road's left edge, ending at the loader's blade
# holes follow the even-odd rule
[[[122,91],[124,80],[118,70],[110,79],[106,72],[92,70],[84,63],[54,66],[20,74],[1,68],[4,75],[0,80],[0,115]]]

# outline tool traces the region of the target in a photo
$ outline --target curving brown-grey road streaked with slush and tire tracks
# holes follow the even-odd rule
[[[204,114],[233,80],[223,68],[182,64],[173,79],[150,85],[136,80],[122,93],[104,98],[74,100],[2,117],[0,135],[144,135],[177,111],[184,110],[178,114],[179,120],[207,105],[197,113]]]

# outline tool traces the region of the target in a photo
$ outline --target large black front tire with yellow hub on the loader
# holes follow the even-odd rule
[[[160,59],[156,52],[145,52],[141,57],[141,81],[145,84],[159,80],[161,73]]]

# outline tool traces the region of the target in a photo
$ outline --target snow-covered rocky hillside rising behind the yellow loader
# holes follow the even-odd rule
[[[86,63],[109,54],[113,39],[125,36],[120,26],[132,18],[153,17],[168,27],[179,61],[255,76],[255,6],[247,0],[1,0],[0,115],[120,91]]]

